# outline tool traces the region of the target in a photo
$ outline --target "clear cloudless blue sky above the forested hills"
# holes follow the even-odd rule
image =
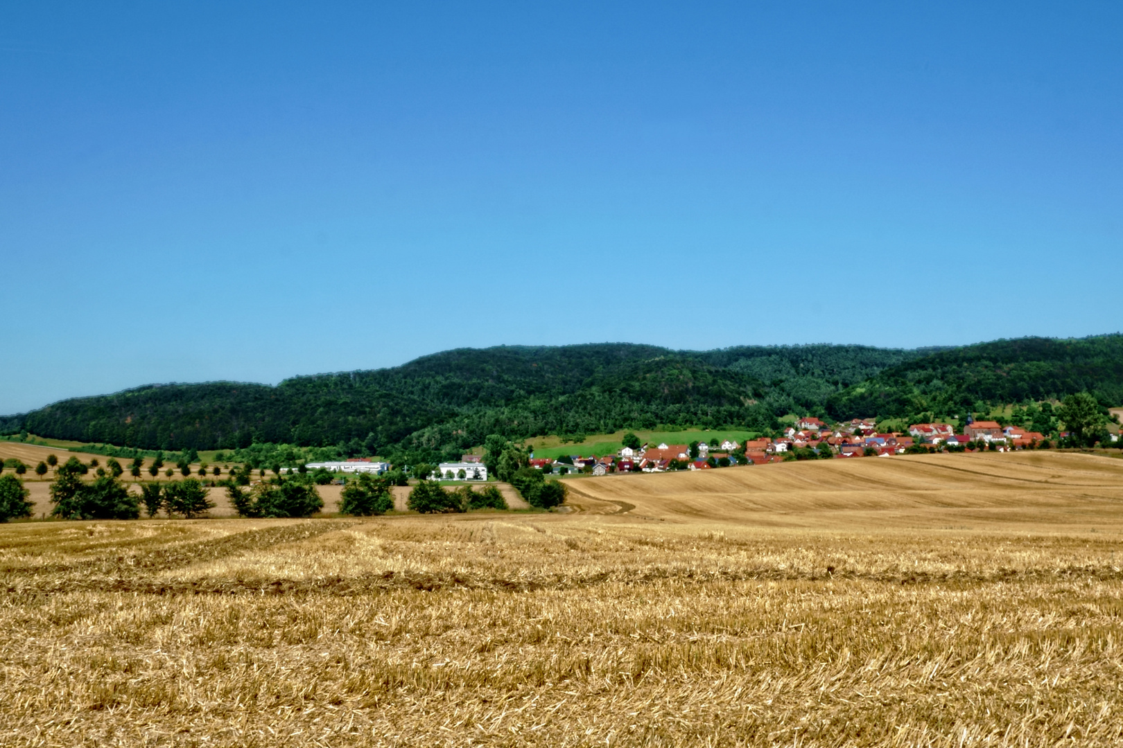
[[[0,413],[1123,317],[1123,4],[0,6]]]

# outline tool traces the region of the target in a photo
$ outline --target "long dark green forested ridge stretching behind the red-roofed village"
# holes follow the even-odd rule
[[[338,446],[431,459],[489,434],[579,436],[620,428],[767,430],[786,413],[955,414],[979,401],[1093,391],[1123,401],[1123,336],[1023,339],[957,349],[864,345],[673,351],[603,343],[458,349],[400,367],[274,386],[150,385],[62,400],[3,430],[143,449]]]

